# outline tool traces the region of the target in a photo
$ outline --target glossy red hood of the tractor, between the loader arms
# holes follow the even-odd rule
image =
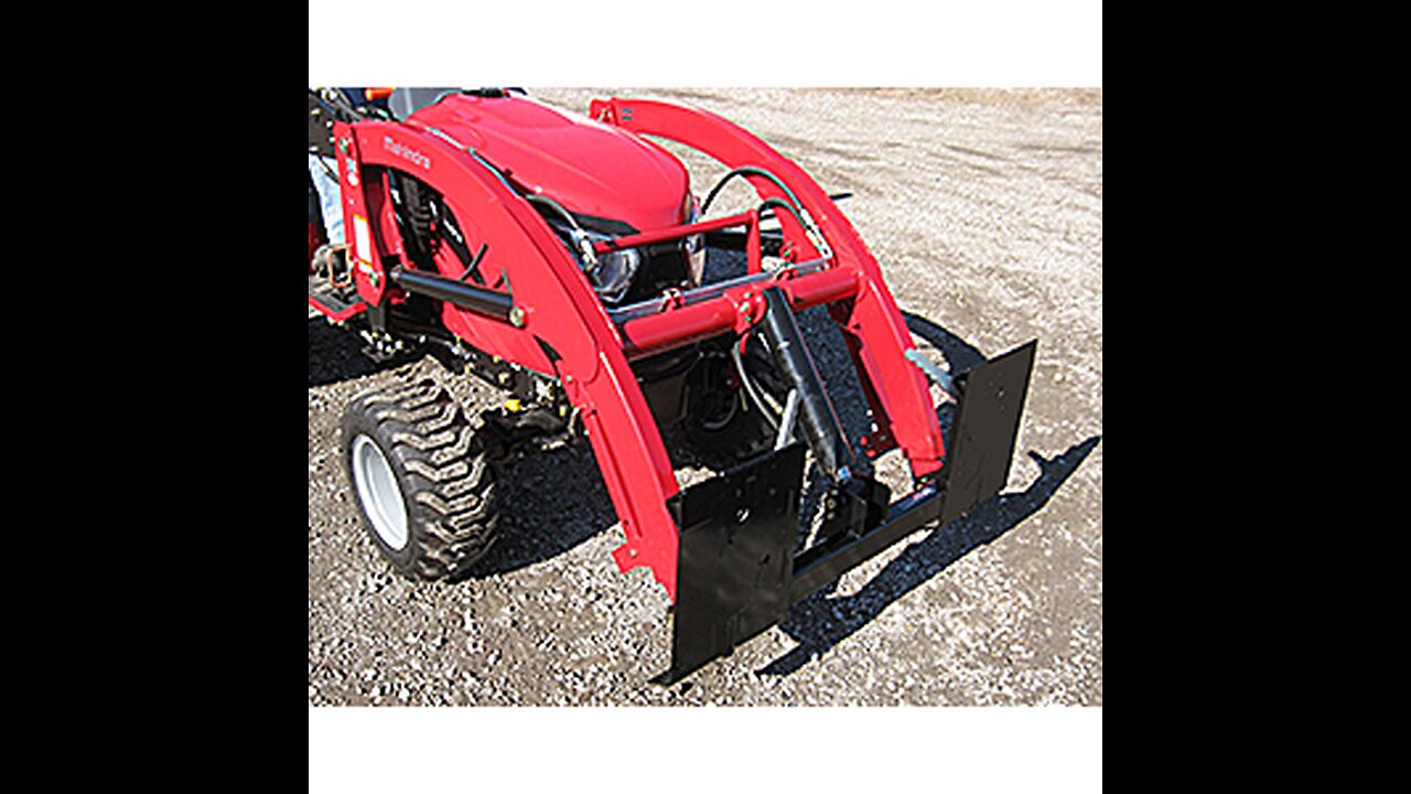
[[[686,219],[690,177],[631,133],[519,96],[452,95],[411,120],[474,148],[511,181],[570,211],[639,232]]]

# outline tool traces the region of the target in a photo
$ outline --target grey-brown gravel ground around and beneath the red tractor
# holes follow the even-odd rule
[[[1037,338],[1009,483],[663,688],[648,680],[670,660],[666,593],[646,569],[617,571],[610,554],[622,534],[586,445],[515,462],[505,540],[471,578],[418,583],[392,572],[358,523],[337,427],[356,393],[396,373],[310,319],[309,702],[1101,705],[1101,90],[531,95],[571,110],[611,95],[694,105],[769,141],[825,191],[852,192],[844,212],[943,367]],[[698,194],[722,172],[687,164]],[[855,437],[865,413],[841,342],[817,312],[803,324]],[[896,452],[876,472],[893,493],[909,487]]]

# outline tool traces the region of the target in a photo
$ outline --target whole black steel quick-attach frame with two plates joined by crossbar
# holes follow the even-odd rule
[[[837,489],[828,531],[800,555],[803,444],[756,458],[667,500],[680,530],[672,667],[674,684],[779,623],[793,603],[844,571],[940,519],[944,524],[999,493],[1019,437],[1037,342],[965,373],[944,483],[888,504],[871,480]]]

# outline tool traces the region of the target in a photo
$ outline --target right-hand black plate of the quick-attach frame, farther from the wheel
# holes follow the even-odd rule
[[[1037,345],[1020,345],[965,373],[965,394],[955,411],[944,469],[943,524],[1005,487]]]

